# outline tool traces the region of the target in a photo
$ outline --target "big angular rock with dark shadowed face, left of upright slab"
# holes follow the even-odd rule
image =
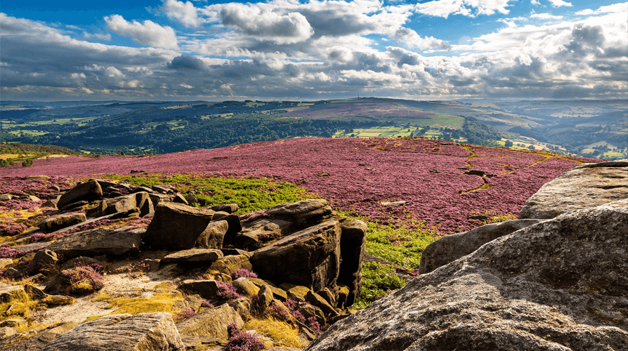
[[[254,272],[275,283],[320,290],[336,282],[340,264],[340,224],[328,220],[284,237],[251,257]]]

